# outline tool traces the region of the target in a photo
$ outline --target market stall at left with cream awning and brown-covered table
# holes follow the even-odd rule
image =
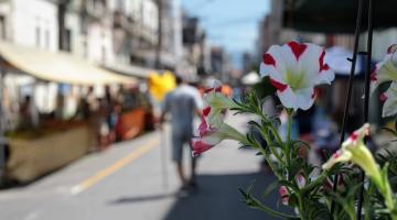
[[[39,84],[55,82],[58,85],[55,92],[68,88],[69,92],[73,91],[71,96],[82,98],[83,96],[78,92],[90,86],[103,87],[105,85],[133,85],[137,82],[133,77],[114,74],[85,59],[62,52],[54,53],[0,42],[0,57],[2,78],[11,75],[22,78],[30,76],[25,84],[30,85],[29,92],[33,98]],[[13,84],[18,82],[13,81]],[[3,85],[4,88],[8,86],[11,84]],[[1,88],[1,91],[4,91],[4,88]],[[17,88],[21,90],[20,87]],[[45,94],[46,91],[49,92]],[[50,90],[44,90],[44,99],[49,100],[39,101],[50,103],[50,98],[45,96],[50,94]],[[1,100],[7,100],[4,96],[2,95]],[[17,95],[14,98],[21,99],[21,95]],[[8,130],[7,133],[4,133],[4,128],[1,128],[1,135],[6,134],[9,147],[9,155],[6,161],[7,177],[23,183],[31,182],[85,155],[96,144],[96,133],[93,131],[89,121],[75,120],[74,117],[66,116],[64,109],[69,107],[64,103],[64,97],[56,95],[53,99],[55,99],[52,100],[55,102],[54,105],[62,108],[46,114],[40,114],[37,117],[40,124],[22,123],[28,124],[28,129]],[[14,102],[18,103],[19,100]],[[23,107],[22,103],[19,108]],[[2,107],[1,109],[6,108]],[[28,108],[28,110],[30,109]],[[19,119],[19,121],[24,122],[23,120],[25,119]]]

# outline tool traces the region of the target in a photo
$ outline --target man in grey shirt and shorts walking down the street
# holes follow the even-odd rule
[[[190,178],[186,178],[182,163],[183,145],[187,144],[192,148],[193,119],[194,114],[201,114],[203,103],[196,88],[187,85],[180,76],[175,77],[175,81],[176,88],[165,96],[160,117],[160,125],[164,122],[165,114],[170,113],[172,125],[172,160],[176,164],[178,176],[182,184],[181,191],[186,191],[196,188],[196,158],[191,158],[192,172]]]

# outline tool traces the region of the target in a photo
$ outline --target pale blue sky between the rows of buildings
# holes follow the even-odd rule
[[[210,43],[224,46],[235,62],[255,50],[259,21],[269,11],[268,0],[181,1],[189,14],[201,19]]]

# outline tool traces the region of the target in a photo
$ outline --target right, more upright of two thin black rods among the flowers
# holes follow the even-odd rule
[[[368,0],[368,35],[367,35],[367,56],[365,63],[365,90],[364,90],[364,123],[368,122],[368,112],[369,112],[369,82],[371,82],[371,59],[372,59],[372,44],[373,44],[373,14],[374,14],[374,1]],[[366,140],[365,140],[366,142]],[[364,200],[364,180],[365,174],[361,170],[360,174],[360,194],[358,194],[358,202],[357,202],[357,212],[356,219],[361,220],[362,218],[362,208],[363,208],[363,200]]]

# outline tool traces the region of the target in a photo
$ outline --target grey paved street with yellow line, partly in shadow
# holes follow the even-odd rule
[[[243,119],[234,120],[242,125]],[[244,125],[242,127],[244,128]],[[254,179],[260,194],[275,179],[259,173],[255,152],[225,141],[200,160],[197,194],[179,198],[167,155],[168,182],[159,132],[112,145],[28,186],[0,191],[1,220],[239,220],[275,219],[240,202],[237,191]],[[189,152],[185,156],[189,157]],[[276,206],[277,193],[265,201]]]

